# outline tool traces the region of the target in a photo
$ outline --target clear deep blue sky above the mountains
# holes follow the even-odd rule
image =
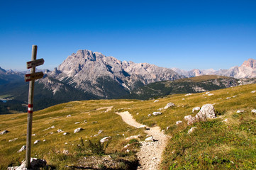
[[[255,0],[0,0],[0,67],[26,70],[32,45],[53,69],[80,49],[179,69],[256,59]]]

